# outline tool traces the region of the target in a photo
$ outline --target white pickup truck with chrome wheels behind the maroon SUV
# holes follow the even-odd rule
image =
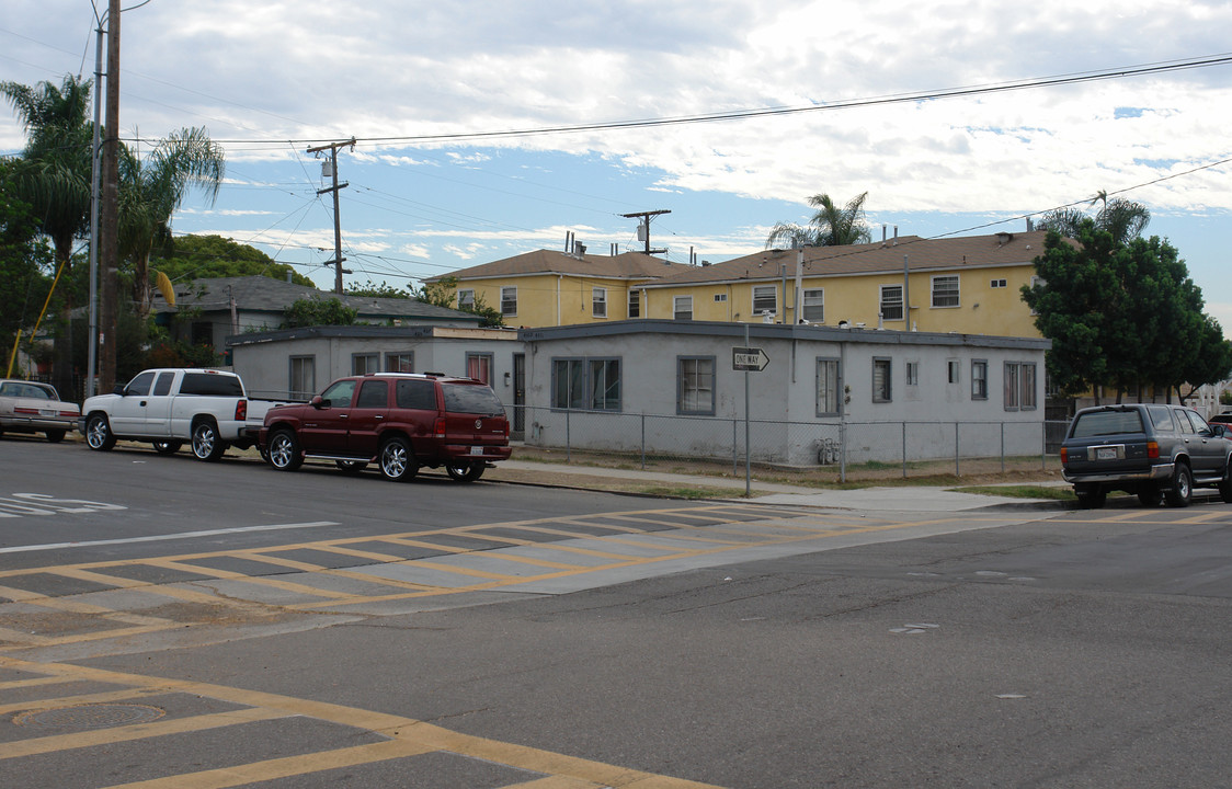
[[[235,373],[168,368],[138,373],[112,394],[81,406],[79,427],[91,449],[107,452],[116,441],[148,441],[159,454],[190,442],[201,460],[217,460],[227,447],[256,443],[265,412],[278,403],[251,400]]]

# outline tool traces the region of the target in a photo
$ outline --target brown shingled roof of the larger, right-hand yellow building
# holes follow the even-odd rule
[[[984,268],[1029,265],[1044,252],[1047,233],[998,233],[955,239],[899,236],[875,244],[804,247],[806,277],[902,273],[903,256],[913,272],[929,270]],[[780,265],[786,274],[796,276],[796,250],[765,250],[713,266],[687,267],[687,271],[663,277],[650,288],[737,282],[742,279],[779,279]]]

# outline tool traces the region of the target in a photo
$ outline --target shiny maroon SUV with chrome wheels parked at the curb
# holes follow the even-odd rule
[[[340,378],[307,404],[270,409],[260,446],[282,471],[323,458],[349,473],[376,463],[397,481],[410,480],[420,467],[444,465],[469,483],[511,452],[509,420],[492,388],[434,373]]]

